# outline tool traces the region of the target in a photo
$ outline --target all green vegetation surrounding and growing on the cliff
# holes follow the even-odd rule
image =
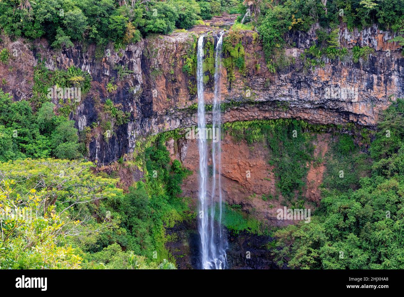
[[[244,17],[247,8],[252,11]],[[404,45],[402,0],[0,0],[0,29],[11,40],[46,38],[55,50],[77,42],[95,43],[103,50],[110,42],[122,48],[151,34],[191,29],[223,13],[239,15],[232,31],[257,32],[274,73],[290,64],[284,51],[293,44],[287,44],[285,34],[308,31],[314,23],[320,23],[318,44],[301,57],[308,67],[321,65],[323,57],[334,61],[347,54],[336,41],[341,23],[349,30],[376,23],[397,32],[394,40]],[[352,53],[357,63],[372,49],[357,46]],[[9,59],[11,53],[0,48],[0,63],[7,65]],[[241,69],[244,58],[234,63]],[[137,166],[143,173],[124,191],[116,172],[99,172],[86,157],[92,128],[114,130],[126,124],[130,114],[107,99],[98,103],[99,124],[79,133],[70,120],[78,103],[61,102],[56,108],[46,89],[80,86],[84,95],[90,91],[90,75],[74,66],[50,71],[40,57],[33,71],[31,98],[13,101],[0,89],[0,208],[1,215],[8,216],[0,225],[0,268],[174,269],[165,230],[196,216],[188,198],[179,197],[191,172],[171,160],[165,146],[166,139],[178,135],[158,135],[137,147],[134,160],[119,159],[119,168]],[[374,135],[365,135],[369,152],[351,136],[336,134],[322,200],[311,223],[272,233],[262,221],[239,211],[240,205],[227,205],[224,225],[234,233],[273,235],[276,240],[269,249],[279,267],[403,268],[403,120],[404,101],[398,99],[383,113]],[[316,161],[313,132],[324,127],[280,120],[236,122],[224,128],[249,145],[265,143],[284,204],[304,205],[305,164]],[[297,138],[290,136],[294,130]],[[344,179],[334,178],[338,168],[345,169]],[[21,213],[13,213],[16,207]]]

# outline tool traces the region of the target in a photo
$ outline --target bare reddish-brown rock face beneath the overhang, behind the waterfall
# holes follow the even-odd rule
[[[330,141],[329,133],[317,135],[313,141],[315,146],[314,156],[322,156],[328,150]],[[194,204],[198,200],[198,167],[199,153],[196,139],[179,139],[176,143],[170,140],[166,143],[171,158],[181,160],[183,165],[193,171],[183,183],[183,196],[193,198]],[[254,215],[259,219],[267,221],[270,225],[281,226],[294,223],[295,221],[284,221],[277,219],[277,209],[282,208],[282,195],[276,190],[276,178],[274,166],[269,165],[270,154],[264,143],[257,143],[248,146],[245,141],[236,142],[229,134],[225,134],[222,142],[222,195],[224,200],[232,204],[240,204],[242,210]],[[323,159],[324,160],[324,159]],[[211,158],[208,165],[211,166]],[[322,183],[325,171],[324,161],[321,164],[307,164],[309,171],[305,179],[305,192],[307,207],[314,211],[313,204],[320,201],[319,186]],[[209,183],[210,184],[210,183]],[[262,195],[272,195],[274,199],[263,200]],[[208,195],[210,189],[208,188]],[[275,197],[278,197],[276,199]]]

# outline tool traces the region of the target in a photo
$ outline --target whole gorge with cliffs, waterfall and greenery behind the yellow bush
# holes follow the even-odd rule
[[[120,45],[55,48],[45,38],[2,34],[0,50],[16,56],[0,63],[0,103],[4,114],[16,110],[18,124],[8,128],[2,116],[2,137],[25,135],[23,115],[38,115],[39,131],[62,148],[77,135],[80,156],[53,159],[24,143],[27,158],[4,157],[0,174],[34,176],[24,190],[46,196],[38,213],[53,218],[54,207],[61,221],[76,224],[63,232],[83,260],[77,267],[390,265],[394,253],[376,253],[372,244],[400,245],[401,33],[377,23],[351,27],[342,18],[332,27],[316,21],[286,30],[268,57],[259,26],[241,18],[224,13]],[[54,94],[76,86],[80,98],[48,96],[49,88]],[[5,107],[23,101],[30,111]],[[72,122],[59,124],[61,117]],[[39,186],[44,176],[51,186]],[[87,192],[94,197],[86,204]],[[279,219],[279,209],[311,219]],[[81,233],[86,224],[91,228]],[[395,230],[389,240],[378,233],[387,228]],[[341,251],[349,259],[339,258]],[[400,253],[394,259],[391,267],[401,267]]]

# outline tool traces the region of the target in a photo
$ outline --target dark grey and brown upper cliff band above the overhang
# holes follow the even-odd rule
[[[368,61],[361,59],[353,63],[348,56],[337,61],[327,60],[324,67],[307,68],[299,56],[316,42],[316,29],[314,26],[308,33],[294,32],[287,36],[288,43],[295,46],[286,49],[291,63],[275,74],[266,67],[262,44],[256,34],[241,32],[245,67],[242,71],[234,65],[223,67],[222,102],[227,103],[223,122],[297,118],[313,124],[353,122],[375,128],[379,112],[391,100],[404,96],[404,59],[400,46],[388,42],[391,33],[376,26],[361,32],[348,32],[341,27],[342,46],[352,48],[358,44],[375,49]],[[142,141],[144,136],[196,124],[196,81],[191,72],[188,74],[183,68],[188,63],[186,59],[195,55],[197,35],[207,30],[209,28],[198,27],[196,32],[154,36],[118,51],[109,46],[101,54],[93,45],[84,48],[80,44],[54,52],[44,40],[37,40],[32,50],[20,47],[24,61],[14,72],[0,65],[0,76],[8,82],[3,89],[15,100],[32,96],[32,67],[38,63],[37,54],[50,70],[75,65],[87,71],[93,80],[91,90],[71,114],[80,131],[97,122],[97,100],[104,102],[110,98],[130,112],[129,122],[116,127],[108,142],[102,133],[93,133],[88,145],[90,160],[109,164],[124,154],[133,153],[136,141]],[[215,38],[208,36],[206,40],[213,43]],[[212,54],[209,48],[205,54],[206,57]],[[213,97],[209,65],[205,74],[209,103]],[[118,88],[108,93],[105,85],[112,79]],[[210,120],[209,114],[207,119]]]

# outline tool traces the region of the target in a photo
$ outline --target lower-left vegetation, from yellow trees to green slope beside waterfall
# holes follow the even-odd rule
[[[0,267],[174,268],[164,228],[190,215],[177,198],[189,171],[170,162],[162,141],[139,154],[145,175],[127,193],[118,179],[93,173],[91,162],[0,163],[0,206],[9,214],[0,229]]]

